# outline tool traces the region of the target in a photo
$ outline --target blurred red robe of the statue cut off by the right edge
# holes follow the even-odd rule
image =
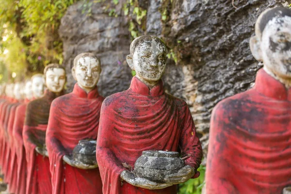
[[[207,194],[282,194],[291,186],[291,89],[259,70],[255,87],[214,108]]]

